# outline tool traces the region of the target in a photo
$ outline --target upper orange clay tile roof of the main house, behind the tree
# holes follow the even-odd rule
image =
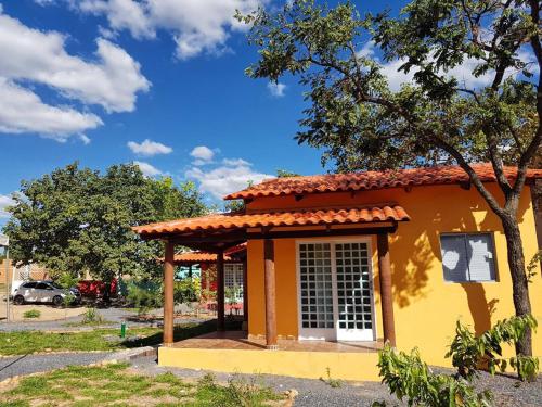
[[[475,164],[473,168],[483,182],[495,181],[491,164]],[[514,179],[517,168],[505,167],[505,174]],[[542,169],[529,169],[530,181],[542,178]],[[307,177],[273,178],[227,195],[225,200],[280,196],[318,192],[344,192],[377,190],[395,187],[460,183],[468,181],[467,174],[459,166],[423,167],[386,171],[330,174]]]

